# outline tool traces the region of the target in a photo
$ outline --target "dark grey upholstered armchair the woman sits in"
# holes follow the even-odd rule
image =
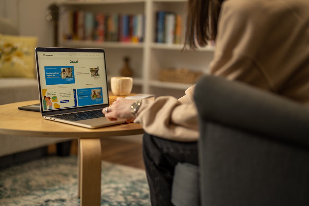
[[[309,107],[206,76],[194,99],[199,166],[175,168],[175,206],[309,205]]]

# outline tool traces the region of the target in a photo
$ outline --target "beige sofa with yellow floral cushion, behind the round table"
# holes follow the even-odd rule
[[[15,41],[15,42],[14,42]],[[26,45],[29,42],[29,45]],[[39,99],[38,83],[35,71],[34,47],[37,37],[19,36],[18,30],[10,19],[0,18],[0,105]],[[18,61],[15,65],[10,60],[10,51],[19,52],[14,46],[28,46],[25,55],[28,61]],[[11,50],[8,50],[11,49]],[[14,48],[14,49],[12,49]],[[20,53],[17,55],[21,56]],[[25,56],[24,55],[24,56]],[[7,59],[5,59],[7,58]],[[30,66],[21,65],[29,63]],[[12,65],[12,66],[11,66]],[[16,72],[17,71],[17,72]],[[26,105],[25,105],[26,106]],[[0,134],[0,166],[21,162],[40,154],[46,154],[47,145],[67,142],[60,138],[17,137]],[[61,145],[58,145],[61,149]]]

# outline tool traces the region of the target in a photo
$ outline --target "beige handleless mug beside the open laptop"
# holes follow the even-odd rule
[[[132,77],[112,77],[111,90],[114,95],[129,95],[133,87]]]

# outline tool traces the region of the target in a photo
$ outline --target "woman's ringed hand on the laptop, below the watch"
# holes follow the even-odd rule
[[[127,123],[133,121],[135,116],[130,112],[131,105],[135,102],[132,99],[118,97],[111,106],[105,107],[102,112],[110,120],[125,119]]]

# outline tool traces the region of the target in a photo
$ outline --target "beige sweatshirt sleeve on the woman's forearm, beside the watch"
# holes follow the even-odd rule
[[[197,141],[197,110],[193,103],[194,86],[176,99],[161,96],[151,101],[143,99],[135,123],[142,124],[145,132],[173,141]]]

